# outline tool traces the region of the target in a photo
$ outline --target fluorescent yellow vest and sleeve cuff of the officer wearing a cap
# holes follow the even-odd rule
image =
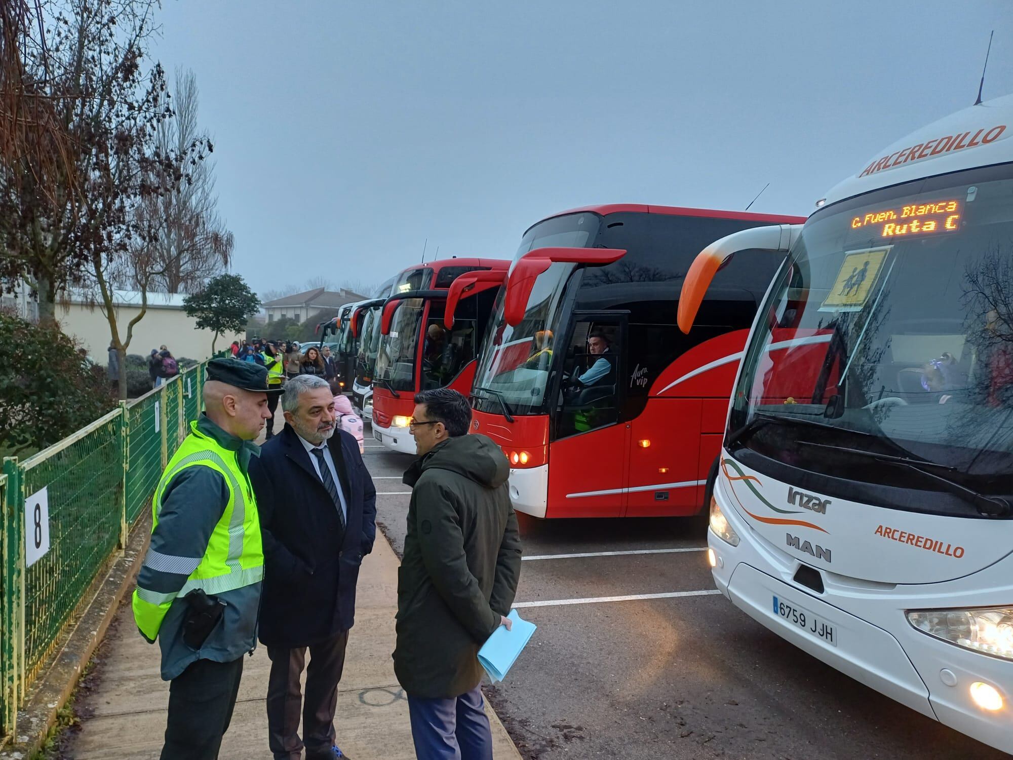
[[[190,431],[158,482],[151,508],[152,532],[158,526],[165,488],[186,467],[211,467],[221,473],[229,488],[229,503],[212,531],[204,557],[178,592],[162,594],[140,587],[135,590],[134,619],[150,639],[158,635],[162,620],[177,596],[184,597],[193,589],[204,589],[212,596],[223,594],[263,579],[260,519],[249,478],[239,469],[236,452],[222,448],[214,439],[199,432],[196,422],[190,423]]]

